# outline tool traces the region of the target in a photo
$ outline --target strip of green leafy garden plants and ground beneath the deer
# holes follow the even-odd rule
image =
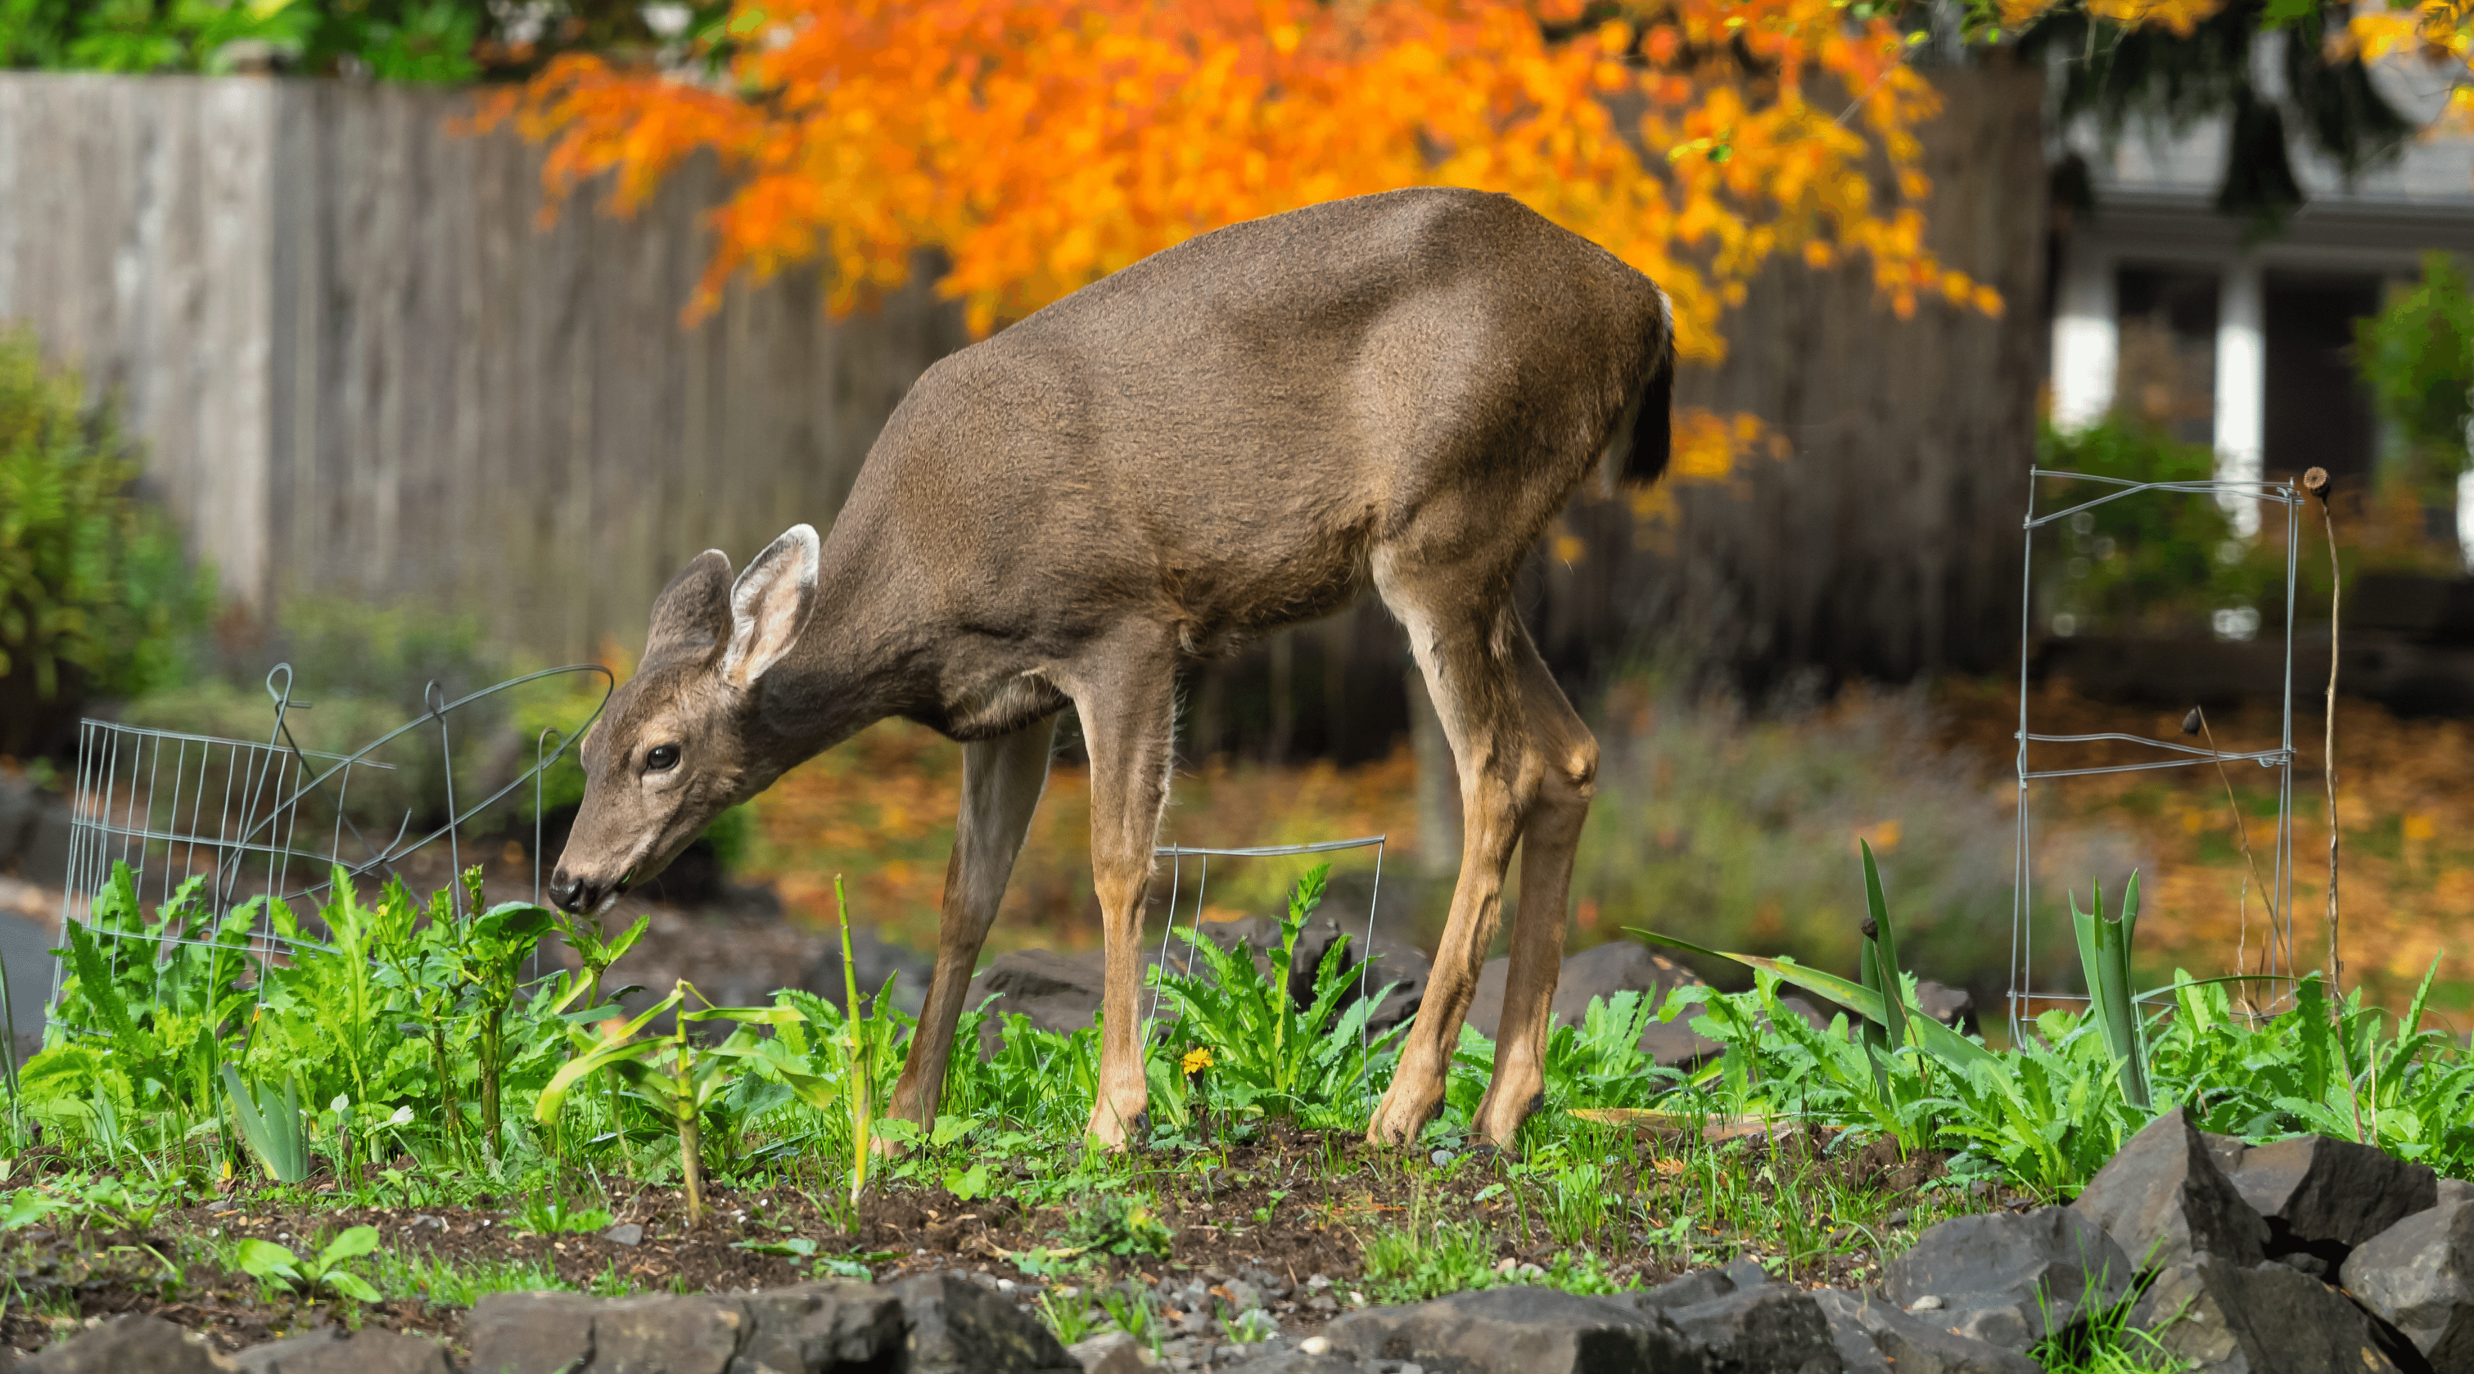
[[[717,1008],[680,984],[623,1011],[599,969],[520,974],[517,942],[567,917],[458,914],[443,892],[361,895],[344,875],[314,917],[272,912],[294,942],[270,959],[247,944],[255,909],[213,919],[198,887],[146,909],[116,870],[92,927],[67,932],[49,1043],[0,1127],[0,1243],[25,1295],[0,1320],[25,1344],[22,1325],[116,1292],[223,1295],[267,1330],[418,1327],[505,1288],[995,1263],[1064,1337],[1145,1337],[1168,1320],[1158,1275],[1257,1255],[1324,1275],[1311,1292],[1333,1307],[1507,1283],[1608,1292],[1744,1255],[1860,1283],[1942,1216],[2071,1196],[2185,1105],[2251,1142],[2323,1132],[2474,1174],[2474,1063],[2420,998],[2390,1018],[2311,976],[2259,1018],[2229,981],[2133,993],[2113,956],[2135,934],[2128,887],[2081,919],[2098,1011],[2046,1011],[1994,1048],[1915,1008],[1870,858],[1858,979],[1729,954],[1749,991],[1593,1001],[1554,1030],[1546,1110],[1512,1152],[1472,1149],[1492,1045],[1470,1028],[1415,1149],[1363,1144],[1398,1035],[1366,1030],[1380,993],[1361,996],[1346,946],[1304,996],[1277,974],[1316,870],[1264,959],[1205,932],[1190,971],[1155,974],[1145,1149],[1081,1149],[1098,1028],[1014,1016],[982,1058],[975,1011],[935,1132],[873,1122],[891,1139],[866,1174],[873,1105],[854,1087],[886,1082],[910,1033],[888,988]],[[1846,1011],[1813,1026],[1781,988]],[[1658,1021],[1719,1050],[1663,1068],[1640,1048]],[[631,1263],[601,1236],[614,1216],[688,1258]],[[2140,1367],[2140,1339],[2113,1332],[2053,1367]]]

